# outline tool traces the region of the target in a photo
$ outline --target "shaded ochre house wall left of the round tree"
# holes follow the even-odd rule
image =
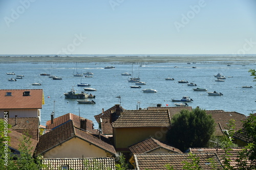
[[[149,137],[164,141],[166,132],[167,127],[113,128],[114,145],[118,152],[122,152]]]

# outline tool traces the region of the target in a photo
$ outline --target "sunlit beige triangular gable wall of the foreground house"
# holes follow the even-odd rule
[[[80,138],[72,138],[45,153],[44,158],[94,158],[106,157],[107,153]]]

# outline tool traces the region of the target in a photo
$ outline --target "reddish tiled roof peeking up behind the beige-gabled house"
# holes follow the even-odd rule
[[[48,120],[46,122],[46,129],[50,130],[50,129],[54,129],[64,123],[67,123],[70,120],[73,120],[73,124],[76,128],[80,128],[80,119],[85,119],[83,117],[79,117],[73,113],[67,113],[65,115],[59,116],[57,118],[53,119],[53,124],[51,124],[51,120]],[[93,122],[92,120],[87,119],[87,130],[90,132],[94,132],[95,130],[93,130]]]

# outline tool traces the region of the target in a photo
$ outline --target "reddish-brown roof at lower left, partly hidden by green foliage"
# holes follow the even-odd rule
[[[23,140],[23,134],[10,129],[10,133],[8,133],[8,136],[10,136],[9,146],[18,151],[19,145],[20,145],[20,140]],[[30,141],[31,141],[31,143],[28,145],[28,147],[30,147],[30,148],[32,147],[31,155],[33,155],[36,145],[37,145],[37,140],[31,138]]]

